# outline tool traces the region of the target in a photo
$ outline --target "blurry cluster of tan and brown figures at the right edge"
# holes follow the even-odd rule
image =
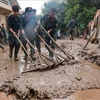
[[[100,9],[97,10],[94,20],[90,21],[84,30],[84,39],[89,36],[91,43],[98,43],[100,47]]]

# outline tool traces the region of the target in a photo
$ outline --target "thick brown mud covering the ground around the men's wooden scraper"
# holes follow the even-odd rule
[[[30,68],[30,62],[22,59],[24,55],[21,50],[18,62],[9,59],[6,46],[7,52],[0,54],[0,90],[7,95],[11,93],[16,95],[18,100],[31,100],[31,98],[61,100],[77,91],[100,89],[98,45],[89,44],[86,50],[83,50],[86,41],[82,39],[58,40],[57,43],[75,59],[57,68],[23,74],[21,72]],[[42,49],[43,53],[45,51],[44,54],[47,54],[46,49]]]

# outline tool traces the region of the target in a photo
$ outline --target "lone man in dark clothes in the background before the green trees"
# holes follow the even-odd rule
[[[77,22],[75,21],[75,18],[73,17],[72,20],[69,23],[69,33],[71,35],[70,40],[74,40],[75,37],[75,28],[77,26]]]

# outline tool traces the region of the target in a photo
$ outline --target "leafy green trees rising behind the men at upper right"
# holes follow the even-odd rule
[[[93,20],[99,4],[99,0],[50,0],[44,4],[42,13],[45,15],[52,7],[55,7],[58,11],[57,19],[60,27],[67,26],[74,16],[78,22],[78,28],[84,29],[89,21]]]

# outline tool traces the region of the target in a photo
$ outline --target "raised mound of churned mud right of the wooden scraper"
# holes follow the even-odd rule
[[[86,42],[87,41],[84,40],[79,40],[75,43],[73,41],[65,41],[64,43],[61,43],[61,47],[75,57],[78,56],[79,58],[100,66],[100,48],[98,48],[97,44],[90,43],[84,50],[83,48]]]

